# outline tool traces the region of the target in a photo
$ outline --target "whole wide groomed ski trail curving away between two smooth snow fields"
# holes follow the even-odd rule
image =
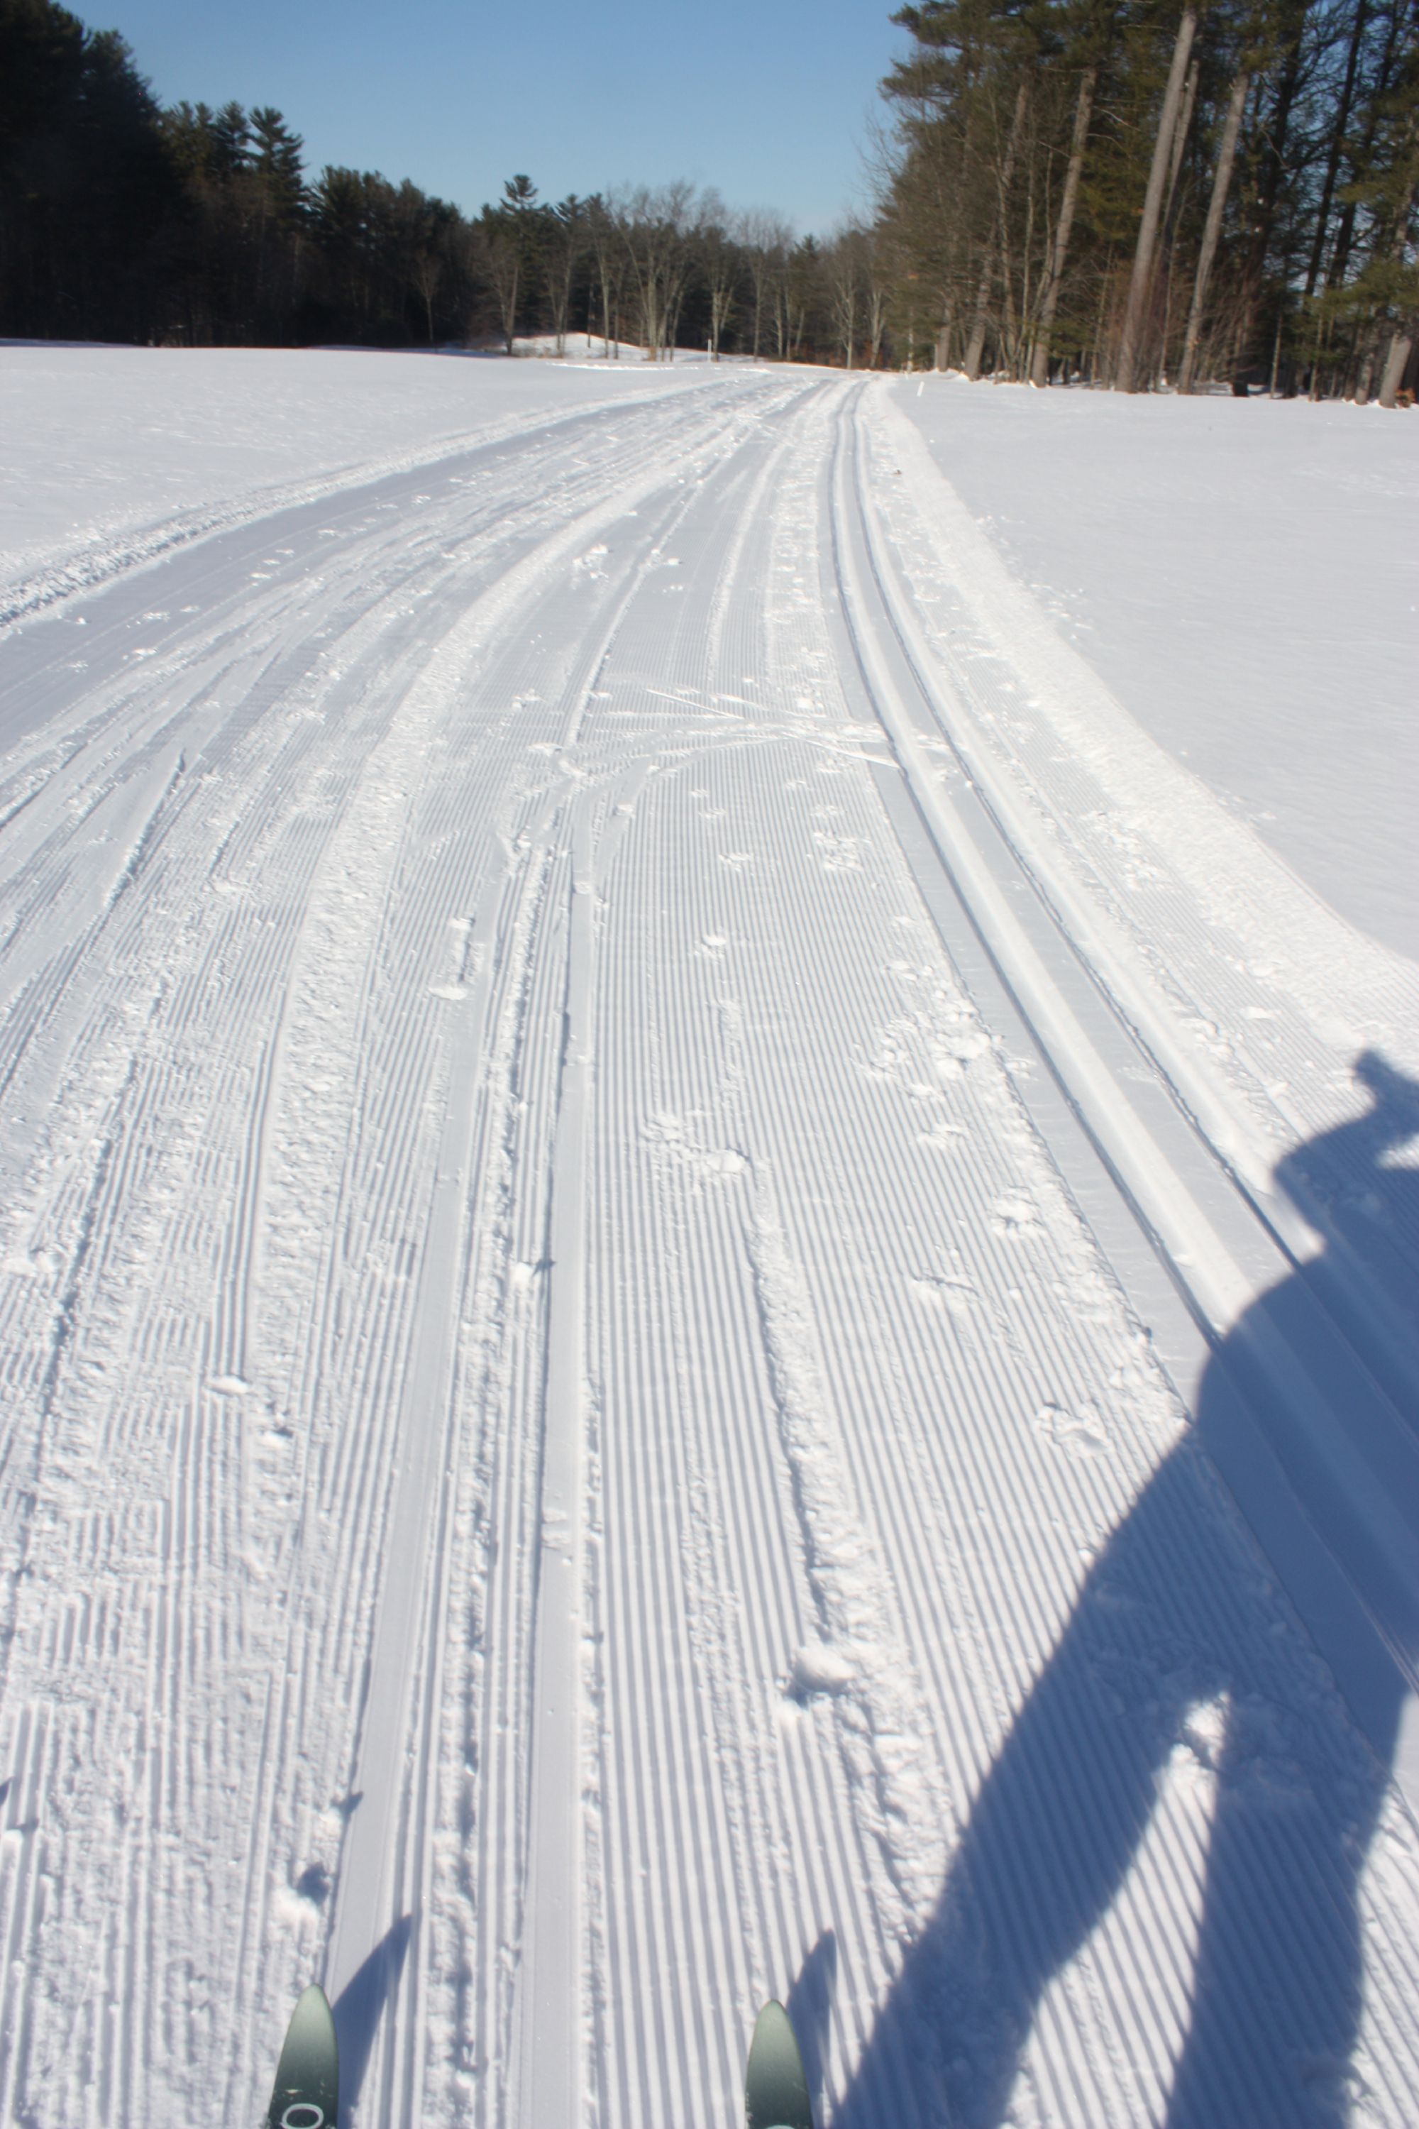
[[[357,2129],[732,2120],[768,1995],[828,2120],[1004,2118],[925,2018],[942,1884],[1179,1471],[1140,1573],[1196,1620],[1115,1599],[1170,1724],[1117,1897],[1051,1974],[1064,1803],[1053,1888],[976,1859],[1049,1976],[1011,2118],[1168,2118],[1245,1780],[1264,1825],[1379,1797],[1353,1922],[1323,1882],[1359,2042],[1287,2118],[1404,2120],[1419,1837],[1266,1501],[1181,1448],[1306,1256],[1266,1162],[1336,1052],[1059,749],[1089,703],[987,641],[904,453],[855,383],[645,398],[0,649],[0,2118],[255,2120],[313,1974]],[[1404,1309],[1325,1294],[1396,1490]],[[1270,1944],[1283,1848],[1238,1869]]]

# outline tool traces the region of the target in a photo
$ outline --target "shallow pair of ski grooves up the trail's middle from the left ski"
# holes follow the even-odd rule
[[[674,475],[674,481],[683,481],[683,477],[685,475],[679,473]],[[655,560],[655,526],[660,522],[660,528],[668,530],[681,507],[683,502],[672,488],[668,505],[662,502],[651,517],[651,566]],[[636,549],[632,549],[632,554],[634,551]],[[625,564],[619,566],[623,568]],[[551,732],[555,735],[557,724],[574,724],[579,715],[581,696],[594,677],[596,654],[591,647],[596,643],[596,634],[591,634],[585,645],[572,639],[572,656],[568,664],[568,654],[564,649],[566,630],[551,628],[547,630],[549,649],[540,654],[538,639],[542,630],[538,628],[536,598],[545,596],[549,609],[560,615],[566,592],[560,583],[553,583],[549,594],[538,594],[536,577],[530,579],[530,588],[534,592],[534,605],[519,613],[513,641],[506,649],[498,649],[489,669],[479,675],[479,692],[483,698],[494,703],[508,696],[515,703],[547,703],[553,717]],[[611,577],[608,590],[600,596],[611,596],[613,588],[615,577]],[[611,626],[615,626],[615,611]],[[568,703],[570,715],[564,707]],[[517,737],[525,747],[525,730]],[[555,737],[540,741],[538,745],[555,758]],[[498,1952],[489,1961],[487,1969],[483,1969],[491,1978],[498,1974],[500,1965],[504,1965],[508,1944],[523,1944],[523,1959],[530,1959],[525,1944],[530,1922],[523,1914],[528,1876],[528,1803],[523,1784],[528,1731],[532,1724],[528,1695],[532,1680],[530,1637],[534,1633],[534,1620],[538,1618],[538,1552],[534,1539],[536,1522],[530,1522],[528,1518],[536,1518],[538,1514],[542,1484],[540,1443],[547,1424],[542,1409],[542,1356],[547,1333],[540,1311],[525,1311],[517,1307],[515,1290],[519,1286],[521,1269],[530,1271],[536,1284],[536,1271],[545,1265],[549,1248],[545,1233],[547,1186],[542,1177],[547,1177],[549,1171],[549,1152],[560,1105],[560,1079],[555,1071],[560,1047],[555,1041],[549,1041],[549,1033],[555,1026],[557,999],[564,984],[560,969],[566,962],[566,941],[560,939],[555,922],[560,901],[557,875],[566,864],[566,856],[557,856],[557,852],[562,849],[566,820],[564,803],[555,798],[560,775],[551,777],[551,792],[540,788],[540,783],[534,783],[528,796],[521,796],[517,790],[521,779],[508,777],[506,760],[494,760],[483,771],[487,775],[487,783],[481,788],[479,779],[470,775],[470,769],[472,762],[455,745],[449,754],[449,775],[451,788],[460,796],[462,818],[453,815],[445,822],[438,818],[438,805],[434,805],[428,828],[438,841],[449,839],[457,845],[457,841],[466,837],[466,828],[472,822],[479,822],[483,835],[487,835],[494,822],[500,822],[502,843],[508,849],[513,873],[521,877],[521,890],[504,918],[504,933],[500,935],[485,909],[489,892],[496,905],[506,903],[506,888],[498,886],[498,869],[489,869],[487,856],[483,856],[477,847],[468,852],[464,862],[470,862],[472,867],[470,877],[479,877],[479,871],[487,877],[491,871],[489,888],[485,890],[485,907],[472,905],[470,898],[472,915],[460,920],[468,928],[466,952],[472,956],[477,973],[483,975],[485,981],[474,981],[472,986],[474,1011],[470,1020],[472,1028],[481,1028],[481,1033],[464,1035],[449,1060],[449,1105],[453,1107],[460,1099],[455,1084],[457,1073],[466,1075],[466,1084],[479,1088],[479,1099],[474,1116],[470,1118],[474,1141],[464,1148],[466,1158],[462,1162],[457,1160],[460,1148],[449,1145],[445,1133],[447,1169],[438,1182],[438,1196],[449,1196],[451,1201],[451,1211],[445,1220],[451,1218],[457,1226],[453,1205],[460,1209],[464,1203],[468,1205],[468,1239],[464,1241],[457,1239],[457,1235],[451,1235],[449,1241],[453,1245],[445,1243],[445,1248],[432,1248],[438,1237],[425,1237],[419,1320],[411,1328],[411,1350],[428,1352],[430,1346],[436,1350],[440,1335],[447,1337],[447,1333],[440,1333],[440,1324],[460,1316],[460,1303],[464,1303],[464,1297],[477,1294],[481,1301],[481,1314],[474,1309],[472,1324],[468,1326],[474,1333],[470,1339],[474,1348],[472,1363],[468,1367],[472,1377],[472,1397],[468,1401],[460,1401],[457,1394],[449,1397],[449,1384],[438,1380],[438,1365],[432,1369],[415,1367],[415,1373],[411,1375],[411,1390],[406,1392],[408,1409],[402,1437],[406,1439],[413,1433],[417,1439],[417,1431],[428,1429],[430,1424],[428,1407],[432,1405],[438,1409],[445,1401],[451,1414],[449,1424],[462,1429],[464,1439],[477,1439],[483,1426],[504,1435],[502,1443],[485,1441],[479,1456],[491,1465],[498,1482],[506,1484],[511,1480],[508,1499],[513,1505],[515,1526],[506,1533],[506,1544],[500,1541],[504,1533],[494,1533],[489,1552],[474,1556],[474,1561],[468,1563],[466,1573],[457,1573],[457,1569],[453,1569],[455,1586],[481,1588],[487,1582],[489,1558],[502,1556],[513,1578],[506,1610],[494,1610],[489,1592],[491,1622],[487,1629],[487,1639],[491,1641],[489,1669],[494,1669],[496,1676],[508,1673],[508,1688],[513,1693],[513,1720],[502,1727],[506,1754],[511,1756],[511,1767],[506,1769],[506,1795],[491,1812],[489,1842],[489,1850],[500,1852],[504,1876],[511,1880],[506,1891],[513,1912],[508,1914],[508,1910],[491,1897],[496,1886],[494,1869],[474,1880],[479,1886],[479,1905],[487,1903],[489,1912],[498,1916],[502,1925]],[[398,905],[419,909],[423,907],[423,901],[400,894]],[[457,909],[460,903],[455,901],[453,907]],[[455,971],[455,975],[457,973],[460,971]],[[487,996],[487,979],[494,984],[491,999]],[[457,990],[462,984],[455,981],[453,988]],[[460,1001],[455,999],[453,1005],[457,1007],[457,1003]],[[489,1050],[491,1054],[487,1054]],[[398,1171],[404,1158],[406,1156],[396,1148],[389,1162],[391,1169]],[[491,1369],[489,1360],[479,1354],[479,1346],[494,1348]],[[506,1354],[502,1363],[496,1356],[498,1346],[502,1346]],[[308,1341],[304,1343],[304,1350],[311,1352]],[[321,1365],[319,1350],[313,1354],[313,1365],[315,1369]],[[487,1380],[489,1373],[491,1382]],[[415,1454],[417,1450],[413,1450],[413,1446],[404,1448],[404,1456]],[[430,1443],[425,1450],[425,1473],[432,1478],[440,1463],[445,1463],[445,1452],[440,1452],[436,1443]],[[430,1663],[436,1661],[438,1652],[436,1635],[443,1605],[447,1603],[443,1592],[449,1580],[447,1556],[436,1544],[436,1501],[428,1495],[425,1486],[415,1478],[413,1490],[408,1490],[408,1480],[402,1478],[394,1535],[398,1539],[402,1529],[415,1552],[411,1558],[406,1556],[406,1546],[394,1546],[396,1580],[391,1590],[383,1597],[381,1631],[366,1684],[370,1729],[351,1784],[355,1795],[364,1795],[340,1859],[340,1908],[336,1914],[336,1937],[332,1948],[332,1986],[347,1982],[353,1967],[353,1957],[345,1950],[351,1901],[355,1903],[357,1916],[377,1916],[381,1927],[387,1929],[398,1929],[413,1920],[406,1961],[402,1974],[398,1976],[398,2016],[396,2003],[391,2001],[379,2029],[377,2054],[368,2065],[372,2118],[419,2116],[419,2080],[423,2059],[430,2033],[436,2033],[440,2023],[438,2006],[428,1999],[428,1991],[423,1988],[428,1954],[423,1944],[419,1891],[421,1886],[428,1886],[434,1876],[430,1825],[432,1814],[436,1812],[434,1790],[445,1769],[440,1769],[436,1754],[423,1761],[415,1756],[413,1788],[404,1790],[398,1776],[400,1761],[396,1754],[394,1763],[385,1759],[383,1780],[377,1780],[374,1784],[368,1780],[370,1746],[379,1759],[381,1754],[387,1754],[391,1742],[398,1744],[398,1727],[394,1737],[389,1737],[387,1724],[398,1724],[400,1701],[411,1693],[411,1697],[415,1707],[419,1703],[423,1705],[423,1716],[419,1720],[423,1722],[425,1737],[430,1735],[432,1710],[436,1705]],[[447,1507],[443,1514],[447,1516]],[[425,1526],[421,1546],[419,1522]],[[432,1537],[428,1535],[430,1524]],[[421,1558],[434,1575],[432,1588],[428,1590],[421,1586]],[[394,1631],[389,1631],[387,1624],[391,1603],[396,1605],[396,1612],[402,1614],[402,1624]],[[423,1618],[423,1639],[415,1641],[413,1635],[419,1631],[419,1618]],[[485,1754],[489,1763],[500,1761],[504,1750],[502,1737],[489,1737],[479,1707],[472,1710],[470,1735],[479,1739],[479,1752]],[[479,1820],[483,1820],[483,1814],[479,1814]],[[381,1861],[387,1874],[385,1878],[381,1878]],[[379,1935],[379,1929],[366,1929],[362,1935],[360,1927],[355,1927],[353,1937],[357,1950],[377,1950]],[[481,1995],[496,2006],[494,1988],[483,1988]],[[502,2044],[491,2050],[491,2061],[506,2065],[506,2027],[500,2040]]]

